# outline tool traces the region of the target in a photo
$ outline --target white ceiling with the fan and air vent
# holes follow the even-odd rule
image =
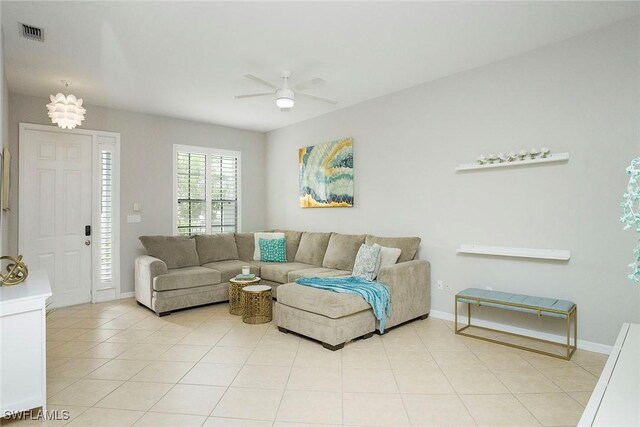
[[[2,2],[12,92],[268,131],[554,43],[638,2]],[[44,27],[23,39],[18,22]],[[251,73],[322,77],[281,113]],[[44,111],[44,106],[43,106]],[[89,109],[87,115],[91,114]]]

